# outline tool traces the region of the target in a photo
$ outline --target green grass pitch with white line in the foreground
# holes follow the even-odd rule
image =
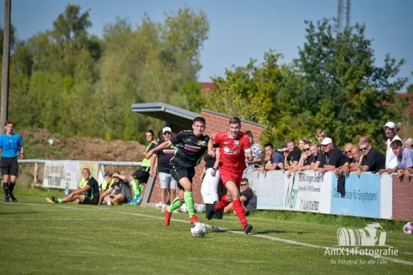
[[[387,232],[386,245],[399,250],[397,256],[329,256],[325,247],[337,245],[338,228],[363,228],[364,221],[372,221],[261,212],[249,218],[254,230],[247,236],[235,216],[208,221],[199,214],[221,231],[208,228],[205,238],[194,238],[186,213],[173,214],[166,227],[163,214],[154,208],[18,198],[19,203],[0,203],[1,274],[407,274],[413,270],[413,236],[403,234],[401,223],[379,221]]]

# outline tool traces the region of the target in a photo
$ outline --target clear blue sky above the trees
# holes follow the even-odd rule
[[[3,25],[4,2],[1,1],[0,22]],[[209,39],[201,51],[203,69],[199,81],[210,76],[223,76],[225,68],[246,65],[249,58],[263,60],[264,52],[276,50],[290,63],[298,56],[305,41],[304,20],[317,21],[336,17],[336,0],[261,0],[261,1],[181,1],[181,0],[12,0],[12,23],[19,39],[52,28],[54,19],[68,3],[79,4],[82,11],[90,8],[92,28],[101,36],[103,26],[117,16],[128,18],[134,25],[141,22],[143,12],[154,21],[163,21],[163,12],[177,10],[185,3],[202,8],[210,21]],[[400,77],[413,83],[413,1],[352,0],[352,24],[365,23],[366,36],[374,39],[376,65],[383,65],[386,53],[399,60],[405,58]]]

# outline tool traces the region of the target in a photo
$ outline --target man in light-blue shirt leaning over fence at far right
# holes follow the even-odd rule
[[[413,173],[413,151],[403,146],[403,142],[400,140],[393,140],[390,144],[393,153],[396,155],[397,166],[387,169],[381,169],[379,173],[396,173],[399,177],[410,177]]]

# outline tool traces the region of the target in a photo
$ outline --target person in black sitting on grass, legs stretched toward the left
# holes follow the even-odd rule
[[[82,177],[85,179],[85,185],[82,188],[77,188],[70,192],[68,197],[57,198],[47,197],[48,203],[66,203],[72,201],[78,201],[81,204],[98,204],[99,203],[99,184],[97,180],[90,175],[90,170],[84,168],[82,170]]]

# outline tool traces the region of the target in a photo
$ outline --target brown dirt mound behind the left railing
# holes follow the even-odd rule
[[[30,158],[108,160],[117,162],[140,162],[146,146],[134,141],[113,140],[107,142],[97,137],[61,137],[51,135],[47,129],[18,132],[27,153],[36,151]],[[26,154],[28,155],[28,154]],[[43,155],[43,157],[42,157]]]

